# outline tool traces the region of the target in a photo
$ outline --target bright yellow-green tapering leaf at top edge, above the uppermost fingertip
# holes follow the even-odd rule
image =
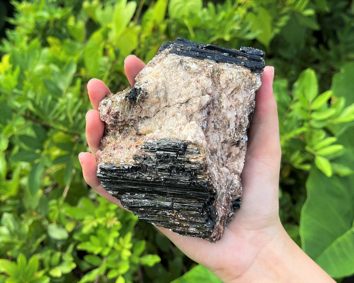
[[[119,0],[115,5],[112,24],[113,42],[115,44],[119,42],[120,35],[129,24],[134,15],[135,9],[135,1],[129,1],[127,3],[126,0]]]

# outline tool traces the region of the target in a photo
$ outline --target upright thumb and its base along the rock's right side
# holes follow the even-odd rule
[[[246,229],[259,229],[279,221],[281,149],[273,77],[274,69],[265,67],[248,132],[247,154],[241,174],[242,205],[230,230],[238,224]]]

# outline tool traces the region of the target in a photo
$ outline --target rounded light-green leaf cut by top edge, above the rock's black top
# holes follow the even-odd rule
[[[203,7],[202,0],[170,0],[169,16],[171,19],[183,19],[198,13]]]

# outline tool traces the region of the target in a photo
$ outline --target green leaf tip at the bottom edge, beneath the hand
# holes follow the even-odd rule
[[[186,272],[183,276],[173,280],[171,283],[221,283],[213,273],[202,265],[197,265]]]

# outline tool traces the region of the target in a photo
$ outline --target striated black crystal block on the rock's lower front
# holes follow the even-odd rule
[[[133,156],[135,165],[99,164],[102,186],[139,219],[181,235],[210,237],[215,190],[200,162],[200,150],[170,139],[149,140],[141,149]]]

